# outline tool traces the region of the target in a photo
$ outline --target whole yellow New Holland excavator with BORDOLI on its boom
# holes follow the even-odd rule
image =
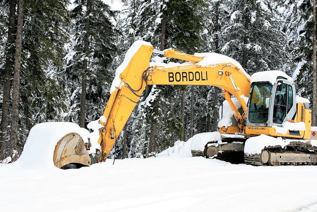
[[[173,67],[160,64],[150,66],[153,54],[186,63]],[[89,166],[105,161],[149,84],[212,85],[222,88],[222,94],[234,113],[232,123],[230,126],[219,126],[221,142],[209,141],[204,150],[193,149],[193,155],[252,165],[317,164],[317,147],[309,140],[309,103],[297,101],[293,80],[287,74],[262,71],[250,76],[238,62],[220,54],[188,55],[174,49],[157,51],[150,43],[137,41],[128,50],[120,69],[117,69],[104,118],[99,121],[103,126],[99,129],[101,149],[94,156],[89,155],[86,150],[89,143],[84,143],[78,134],[67,134],[55,147],[55,166]],[[239,107],[233,99],[238,101]],[[285,130],[285,123],[300,124],[301,127]],[[287,144],[268,143],[260,152],[245,152],[246,141],[259,135],[281,138]]]

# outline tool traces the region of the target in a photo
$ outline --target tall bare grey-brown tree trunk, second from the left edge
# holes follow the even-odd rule
[[[23,30],[23,3],[24,3],[24,0],[19,0],[18,24],[17,24],[17,31],[16,31],[15,60],[14,60],[11,138],[10,138],[10,148],[9,148],[10,150],[16,150],[17,142],[18,142],[20,69],[21,69],[22,30]]]

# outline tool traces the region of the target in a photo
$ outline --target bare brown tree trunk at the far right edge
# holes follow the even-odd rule
[[[314,30],[313,30],[313,112],[312,122],[313,126],[317,124],[317,86],[316,86],[316,0],[313,0],[313,16],[314,16]]]

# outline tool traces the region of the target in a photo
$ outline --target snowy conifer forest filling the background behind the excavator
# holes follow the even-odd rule
[[[122,9],[111,3],[0,1],[0,160],[16,159],[38,123],[86,128],[99,119],[115,69],[136,40],[158,50],[224,54],[250,75],[284,71],[297,95],[313,101],[315,0],[122,0]],[[221,104],[216,87],[149,86],[111,155],[149,157],[216,131]]]

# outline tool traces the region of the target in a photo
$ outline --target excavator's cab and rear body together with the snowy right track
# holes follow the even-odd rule
[[[256,76],[254,76],[256,74]],[[247,105],[247,136],[266,135],[272,143],[247,140],[245,149],[259,142],[261,151],[245,151],[251,165],[316,165],[317,147],[311,144],[312,111],[296,98],[293,79],[282,71],[262,71],[252,75]],[[274,137],[274,138],[273,138]],[[275,138],[279,138],[274,141]],[[249,141],[249,142],[248,142]]]

